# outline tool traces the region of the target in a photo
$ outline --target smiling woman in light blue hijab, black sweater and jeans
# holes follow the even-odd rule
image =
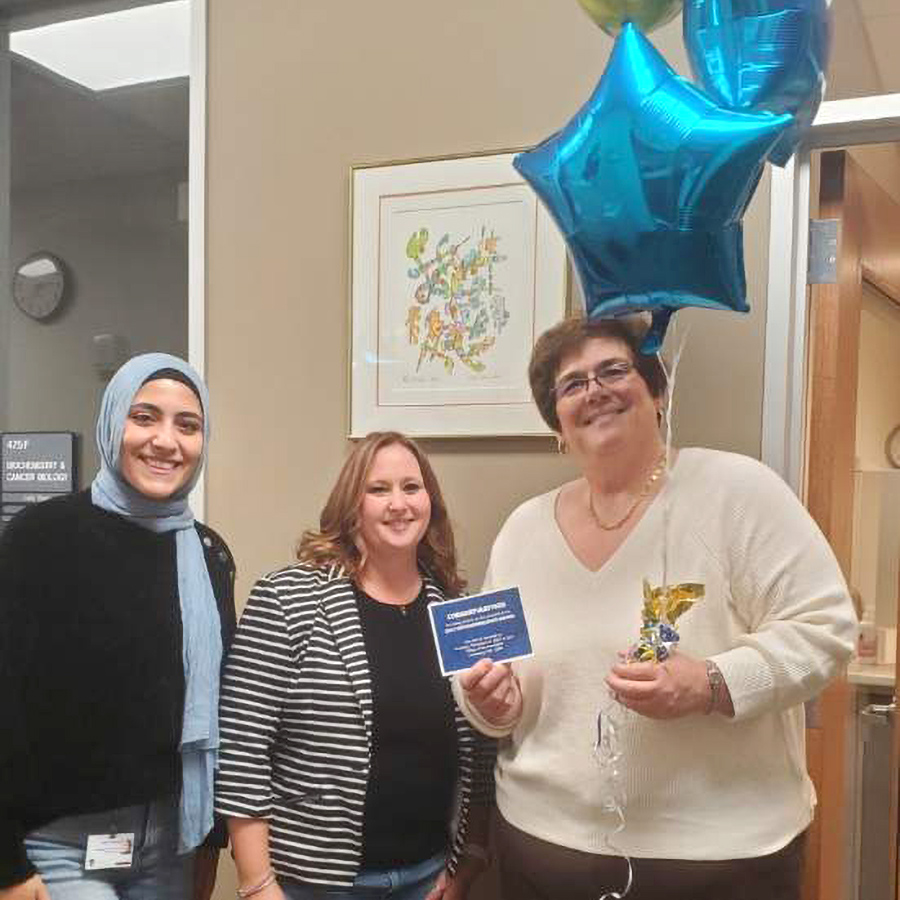
[[[90,489],[0,538],[0,900],[211,890],[235,622],[231,554],[187,503],[208,438],[200,376],[135,357],[103,395]]]

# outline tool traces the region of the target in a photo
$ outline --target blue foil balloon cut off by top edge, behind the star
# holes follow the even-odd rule
[[[694,78],[717,103],[794,115],[769,155],[783,166],[825,91],[827,0],[685,0],[683,22]]]

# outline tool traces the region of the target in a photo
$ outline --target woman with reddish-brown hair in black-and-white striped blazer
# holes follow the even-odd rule
[[[298,559],[256,583],[222,687],[216,808],[238,894],[464,900],[494,746],[438,668],[426,606],[465,584],[416,444],[357,444]]]

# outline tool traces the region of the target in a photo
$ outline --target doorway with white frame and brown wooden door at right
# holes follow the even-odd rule
[[[891,183],[894,194],[900,194],[900,154],[895,145],[874,145],[898,138],[900,95],[825,104],[807,146],[787,171],[773,176],[771,239],[777,252],[770,255],[763,422],[764,460],[804,499],[848,582],[863,585],[857,585],[861,612],[872,618],[876,634],[882,629],[885,665],[892,618],[896,625],[896,577],[881,593],[873,585],[887,585],[891,571],[896,576],[900,546],[893,560],[885,554],[888,574],[873,575],[872,547],[860,538],[867,530],[871,535],[873,522],[882,527],[872,501],[883,497],[883,482],[893,477],[887,472],[892,466],[884,455],[884,437],[875,451],[871,435],[884,428],[875,413],[890,418],[891,403],[900,397],[890,365],[876,361],[887,353],[900,366],[900,346],[893,357],[881,346],[892,334],[892,295],[900,296],[900,205],[883,187],[884,171],[876,163],[880,155],[887,169],[896,170]],[[859,145],[864,145],[861,150],[820,155],[822,148]],[[833,273],[820,279],[828,283],[808,288],[810,211],[836,223],[837,240],[830,254],[818,254],[833,263]],[[885,389],[876,394],[873,384],[881,376]],[[876,613],[879,599],[889,611],[879,607]],[[895,683],[893,667],[885,671],[878,693],[878,686],[866,681],[873,671],[851,670],[850,679],[819,698],[808,722],[808,764],[819,795],[807,859],[809,900],[896,897]],[[883,720],[880,730],[861,716],[873,710]],[[887,785],[881,791],[887,806],[876,809],[872,785],[879,783]],[[866,791],[870,799],[863,803]],[[879,817],[880,826],[872,828]]]

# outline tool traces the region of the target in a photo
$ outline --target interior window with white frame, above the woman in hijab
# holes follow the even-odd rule
[[[31,279],[41,303],[0,296],[0,431],[89,435],[132,351],[188,356],[189,307],[202,369],[205,9],[0,0],[0,264],[58,259],[65,278],[61,299],[50,276]],[[92,441],[76,449],[94,472]]]

